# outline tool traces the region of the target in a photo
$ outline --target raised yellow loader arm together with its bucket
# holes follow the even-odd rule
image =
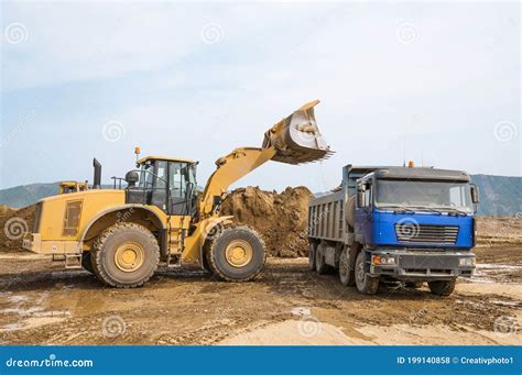
[[[301,164],[326,158],[331,154],[315,122],[311,101],[273,125],[265,134],[262,147],[240,147],[216,161],[217,169],[205,187],[199,212],[213,214],[229,186],[270,159]]]

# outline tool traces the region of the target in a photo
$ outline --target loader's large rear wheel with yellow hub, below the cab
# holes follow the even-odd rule
[[[90,256],[101,282],[117,288],[135,288],[156,271],[160,246],[146,228],[127,222],[105,230],[95,241]]]

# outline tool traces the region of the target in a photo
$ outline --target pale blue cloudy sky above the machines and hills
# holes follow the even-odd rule
[[[232,187],[325,191],[341,167],[521,176],[520,3],[1,3],[0,188],[144,155],[214,162],[319,99],[329,159]]]

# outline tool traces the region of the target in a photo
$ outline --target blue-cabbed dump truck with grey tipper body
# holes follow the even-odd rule
[[[475,269],[478,188],[467,173],[409,166],[342,168],[308,210],[309,268],[372,295],[380,282],[448,296]]]

